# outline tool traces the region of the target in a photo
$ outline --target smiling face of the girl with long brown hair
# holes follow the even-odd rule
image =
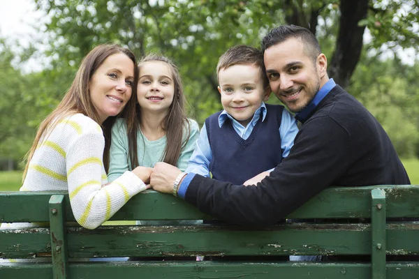
[[[168,114],[174,92],[175,81],[167,63],[163,61],[141,63],[137,98],[142,112]]]

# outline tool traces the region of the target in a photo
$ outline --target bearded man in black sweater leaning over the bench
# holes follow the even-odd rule
[[[272,91],[302,123],[289,156],[269,176],[255,177],[262,179],[257,187],[182,174],[157,163],[154,190],[173,191],[229,223],[270,225],[328,186],[410,184],[380,123],[329,79],[327,59],[309,30],[273,29],[262,50]]]

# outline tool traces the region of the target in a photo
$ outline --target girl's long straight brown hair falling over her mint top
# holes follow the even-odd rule
[[[163,123],[161,123],[161,126],[166,133],[166,147],[163,152],[163,162],[170,165],[177,165],[177,160],[179,160],[180,153],[189,140],[191,130],[184,109],[186,100],[182,80],[180,78],[179,69],[175,63],[173,63],[166,56],[160,56],[157,54],[149,54],[145,56],[141,59],[140,63],[138,63],[139,70],[141,70],[140,68],[142,63],[149,61],[161,61],[167,63],[174,80],[175,94],[169,108],[169,113],[166,116],[166,119],[163,120]],[[141,107],[138,105],[136,94],[128,101],[126,109],[127,114],[124,118],[126,118],[128,133],[128,160],[129,163],[131,163],[131,167],[134,169],[139,165],[137,135],[141,123]],[[184,131],[186,131],[185,134]],[[183,135],[185,135],[185,140],[183,140]]]

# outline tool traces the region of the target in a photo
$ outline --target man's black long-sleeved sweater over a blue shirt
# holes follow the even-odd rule
[[[270,225],[328,186],[410,184],[380,123],[335,86],[295,137],[294,146],[258,186],[239,186],[196,174],[187,202],[228,223]]]

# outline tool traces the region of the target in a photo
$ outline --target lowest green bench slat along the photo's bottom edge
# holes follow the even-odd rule
[[[387,264],[387,278],[418,278],[419,263]],[[114,262],[71,263],[69,279],[115,278],[247,278],[247,279],[371,279],[370,264],[235,263],[235,262]],[[1,266],[0,278],[50,279],[51,264]]]

